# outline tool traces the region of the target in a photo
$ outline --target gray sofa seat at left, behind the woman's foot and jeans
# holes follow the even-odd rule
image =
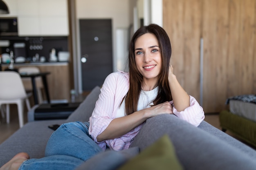
[[[0,145],[0,167],[19,152],[27,152],[31,158],[45,156],[45,146],[54,130],[52,124],[63,124],[65,120],[32,121],[17,130]]]

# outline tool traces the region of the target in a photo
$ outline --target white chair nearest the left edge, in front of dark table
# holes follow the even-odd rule
[[[30,110],[30,103],[27,94],[23,86],[19,73],[15,71],[0,71],[0,107],[6,105],[6,122],[10,122],[10,106],[9,104],[17,104],[18,117],[20,128],[24,124],[24,101],[26,102],[27,109]],[[4,109],[1,109],[3,113]]]

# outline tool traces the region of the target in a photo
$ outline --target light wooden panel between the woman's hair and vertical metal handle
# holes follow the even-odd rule
[[[185,91],[200,99],[201,0],[163,1],[164,29],[172,44],[171,64]]]

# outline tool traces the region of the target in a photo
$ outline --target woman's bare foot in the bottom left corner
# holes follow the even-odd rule
[[[20,165],[27,159],[29,159],[29,155],[27,153],[18,153],[9,162],[5,163],[0,170],[18,170]]]

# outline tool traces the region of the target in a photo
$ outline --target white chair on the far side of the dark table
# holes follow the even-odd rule
[[[38,67],[20,67],[19,73],[40,73],[40,70]],[[43,96],[41,89],[43,88],[43,82],[41,77],[36,77],[36,89],[37,89],[37,96],[38,96],[38,103],[43,103]],[[32,84],[31,84],[31,78],[30,77],[22,77],[22,82],[25,87],[25,90],[27,92],[30,92],[33,90]]]

